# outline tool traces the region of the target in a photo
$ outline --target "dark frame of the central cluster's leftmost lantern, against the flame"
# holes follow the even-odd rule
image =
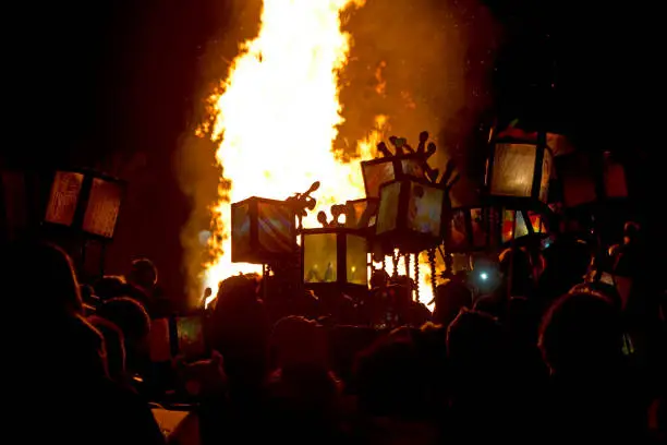
[[[286,212],[287,219],[292,221],[288,228],[290,249],[282,251],[270,251],[266,249],[259,240],[259,205],[270,205],[281,207]],[[248,234],[246,239],[240,238],[234,228],[239,224],[239,214],[235,212],[242,206],[247,206],[246,218],[250,220]],[[251,263],[251,264],[271,264],[277,261],[290,258],[299,253],[296,244],[296,215],[294,209],[284,201],[269,200],[266,197],[251,196],[246,200],[232,203],[231,205],[231,261],[232,263]],[[237,240],[237,241],[234,241]],[[291,242],[290,242],[291,241]],[[234,249],[235,243],[247,243],[250,245],[247,253],[240,253]]]

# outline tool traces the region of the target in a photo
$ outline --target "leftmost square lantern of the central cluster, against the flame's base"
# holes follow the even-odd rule
[[[299,252],[294,211],[283,201],[252,196],[231,205],[233,263],[268,264]]]

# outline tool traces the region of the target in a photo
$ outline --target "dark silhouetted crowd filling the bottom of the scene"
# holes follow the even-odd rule
[[[13,443],[667,438],[665,287],[643,272],[634,224],[608,250],[566,234],[538,254],[508,249],[478,263],[495,264],[495,289],[451,276],[432,315],[397,303],[405,280],[379,272],[363,304],[341,297],[356,313],[337,316],[364,323],[312,292],[280,306],[259,277],[234,276],[199,314],[206,356],[162,361],[151,338],[173,314],[150,261],[84,285],[56,245],[2,256]],[[196,420],[165,434],[151,410],[175,406]]]

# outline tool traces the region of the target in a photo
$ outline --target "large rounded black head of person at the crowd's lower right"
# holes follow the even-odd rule
[[[618,310],[610,299],[597,292],[577,290],[568,293],[545,315],[539,348],[556,374],[615,371],[622,358]]]

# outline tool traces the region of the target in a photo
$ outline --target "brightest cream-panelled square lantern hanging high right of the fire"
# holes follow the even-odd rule
[[[546,144],[496,141],[486,165],[488,194],[512,206],[546,204],[553,164],[554,156]]]

